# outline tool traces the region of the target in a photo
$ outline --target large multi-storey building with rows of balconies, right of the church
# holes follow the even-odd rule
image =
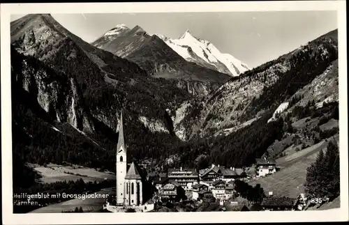
[[[198,183],[198,173],[195,169],[168,169],[168,178],[179,183],[185,190]]]

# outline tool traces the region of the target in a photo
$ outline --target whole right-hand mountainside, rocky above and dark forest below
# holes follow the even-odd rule
[[[337,31],[234,77],[215,93],[170,112],[181,146],[172,166],[248,166],[339,134]],[[168,162],[168,161],[164,161]]]

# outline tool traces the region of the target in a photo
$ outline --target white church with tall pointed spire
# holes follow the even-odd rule
[[[116,161],[116,203],[117,205],[142,205],[144,177],[137,162],[132,162],[127,170],[127,150],[124,140],[122,112],[119,122],[119,140],[117,142]]]

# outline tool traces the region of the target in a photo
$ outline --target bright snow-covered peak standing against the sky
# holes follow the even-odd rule
[[[157,34],[157,36],[186,61],[197,63],[212,70],[218,70],[232,77],[250,70],[246,63],[242,63],[230,54],[221,53],[208,40],[195,38],[189,30],[179,39],[167,38],[161,34]]]

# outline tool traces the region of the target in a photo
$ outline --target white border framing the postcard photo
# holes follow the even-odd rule
[[[295,212],[153,212],[77,214],[12,213],[12,145],[10,99],[10,15],[28,13],[169,13],[336,10],[339,27],[339,96],[341,208]],[[1,149],[3,224],[158,224],[224,222],[348,221],[348,105],[346,67],[346,1],[255,1],[196,3],[21,3],[1,4]],[[155,214],[154,214],[155,213]],[[103,216],[102,216],[103,215]],[[132,216],[133,215],[133,216]]]

